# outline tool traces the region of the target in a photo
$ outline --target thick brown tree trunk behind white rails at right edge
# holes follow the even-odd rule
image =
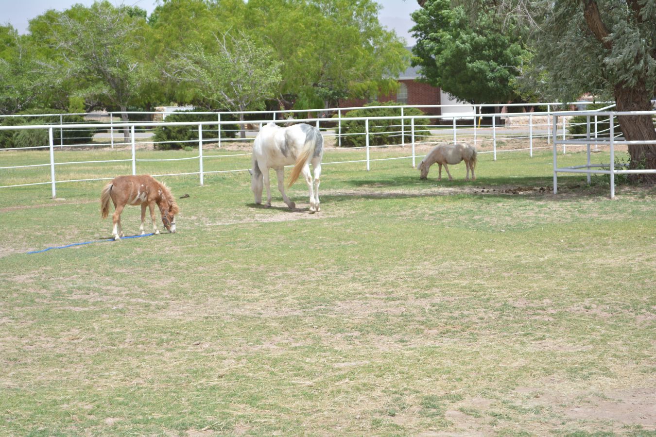
[[[646,90],[644,82],[632,88],[623,85],[615,86],[615,104],[617,111],[651,111],[651,96]],[[622,126],[624,138],[629,141],[656,141],[656,130],[654,129],[651,115],[624,115],[618,117]],[[631,168],[656,169],[656,144],[630,144],[628,145]],[[656,175],[644,174],[633,177],[641,181],[656,182]]]

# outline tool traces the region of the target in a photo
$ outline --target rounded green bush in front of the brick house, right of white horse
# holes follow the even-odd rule
[[[398,108],[396,102],[373,102],[367,106],[388,106],[382,108],[367,108],[367,109],[354,109],[348,111],[346,117],[393,117],[401,115],[401,109]],[[417,108],[403,109],[403,115],[424,115],[422,111]],[[412,133],[410,131],[410,121],[405,120],[405,142],[412,141]],[[426,128],[428,126],[428,119],[415,119],[415,136],[426,136],[430,132]],[[365,121],[364,120],[342,120],[342,146],[344,147],[362,147],[365,145]],[[358,135],[361,134],[361,135]],[[401,119],[388,119],[388,120],[370,120],[369,121],[369,145],[387,145],[387,144],[400,144],[401,143]]]

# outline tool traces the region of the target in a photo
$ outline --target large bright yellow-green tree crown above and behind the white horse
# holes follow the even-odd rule
[[[281,103],[325,107],[396,89],[409,64],[403,41],[380,26],[372,0],[249,0],[239,27],[283,62]]]

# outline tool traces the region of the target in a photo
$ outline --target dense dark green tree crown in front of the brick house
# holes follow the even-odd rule
[[[492,11],[482,8],[472,18],[450,0],[428,0],[412,18],[413,64],[428,83],[472,104],[518,97],[512,81],[529,55],[514,29],[502,28]]]

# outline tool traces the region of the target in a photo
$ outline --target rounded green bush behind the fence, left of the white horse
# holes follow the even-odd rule
[[[167,122],[195,122],[195,121],[216,121],[216,115],[212,114],[195,114],[193,111],[178,111],[169,114],[166,117]],[[221,115],[222,121],[234,120],[226,119],[226,115]],[[234,138],[237,124],[223,124],[221,126],[221,138]],[[185,149],[188,147],[198,147],[198,128],[197,126],[157,126],[155,128],[153,140],[155,142],[167,142],[155,144],[155,149]],[[216,138],[216,124],[213,126],[203,126],[203,138]],[[195,140],[195,142],[194,142]]]

